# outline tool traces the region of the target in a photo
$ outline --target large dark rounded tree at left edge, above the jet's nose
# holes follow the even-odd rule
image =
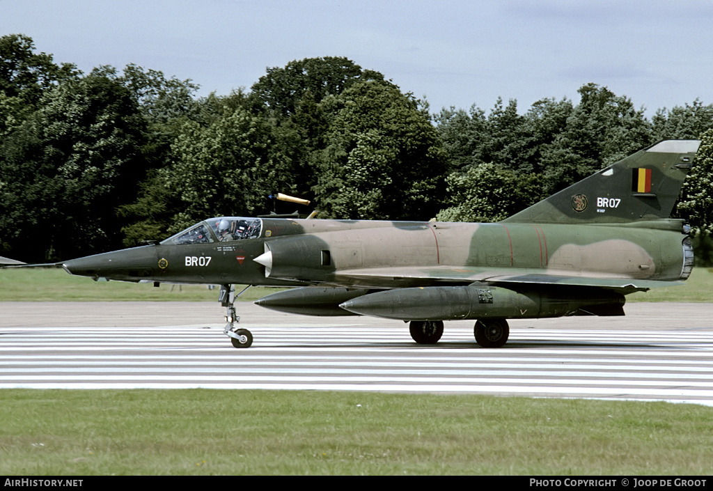
[[[105,76],[46,92],[0,146],[4,248],[51,260],[119,246],[116,207],[143,176],[144,133],[127,91]]]

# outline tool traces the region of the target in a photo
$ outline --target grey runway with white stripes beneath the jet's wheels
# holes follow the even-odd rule
[[[471,321],[437,345],[375,318],[217,303],[0,303],[0,388],[220,388],[482,393],[713,405],[713,305],[633,303],[624,318],[512,320],[484,349]]]

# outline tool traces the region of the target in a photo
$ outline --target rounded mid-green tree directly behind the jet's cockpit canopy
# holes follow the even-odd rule
[[[242,107],[208,126],[186,121],[172,146],[175,162],[160,171],[180,210],[168,231],[209,216],[252,216],[276,188],[292,191],[289,136]]]

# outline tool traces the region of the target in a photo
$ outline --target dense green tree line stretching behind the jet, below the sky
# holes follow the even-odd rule
[[[497,221],[640,148],[702,138],[678,216],[712,228],[713,105],[648,119],[588,83],[580,101],[443,108],[342,57],[267,69],[249,90],[128,65],[84,74],[0,38],[0,255],[60,260],[164,238],[210,216]],[[282,207],[282,208],[279,208]],[[294,208],[294,206],[293,206]]]

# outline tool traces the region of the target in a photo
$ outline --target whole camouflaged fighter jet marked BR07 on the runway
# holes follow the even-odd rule
[[[508,319],[624,315],[625,295],[688,278],[689,227],[670,218],[699,141],[656,143],[498,223],[209,218],[148,246],[68,260],[68,273],[121,281],[294,287],[258,305],[307,315],[409,322],[436,343],[443,321],[476,320],[497,348]]]

